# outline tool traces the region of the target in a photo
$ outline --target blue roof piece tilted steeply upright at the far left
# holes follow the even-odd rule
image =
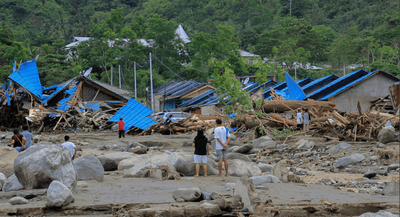
[[[22,63],[19,70],[16,69],[16,63],[14,63],[12,71],[13,73],[9,76],[12,81],[24,87],[38,99],[42,100],[44,98],[35,59]]]

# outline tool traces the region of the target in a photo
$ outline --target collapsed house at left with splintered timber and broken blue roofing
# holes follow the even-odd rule
[[[111,118],[118,110],[129,111],[118,114],[126,117],[125,131],[143,130],[155,123],[148,117],[151,110],[130,98],[133,92],[86,76],[42,87],[36,60],[21,63],[18,68],[15,63],[9,78],[11,83],[2,86],[3,127],[18,128],[27,124],[39,128],[37,132],[68,131],[75,117],[81,131],[108,129],[115,125]]]

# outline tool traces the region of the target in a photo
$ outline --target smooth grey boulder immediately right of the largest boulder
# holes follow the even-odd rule
[[[78,181],[96,179],[103,180],[104,168],[93,154],[85,154],[74,160],[73,165],[78,173]]]

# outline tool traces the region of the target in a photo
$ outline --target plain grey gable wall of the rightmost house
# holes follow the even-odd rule
[[[366,111],[369,101],[389,95],[389,86],[395,81],[381,74],[372,75],[370,78],[333,97],[336,108],[341,111],[357,111],[357,100],[360,101],[361,110]],[[332,101],[330,99],[329,101]]]

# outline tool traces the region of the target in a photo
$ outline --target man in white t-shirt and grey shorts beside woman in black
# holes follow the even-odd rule
[[[215,120],[217,127],[214,129],[215,138],[215,156],[218,160],[218,175],[222,175],[222,160],[225,165],[225,176],[228,176],[228,143],[230,140],[230,135],[228,130],[222,126],[222,120],[217,118]]]

